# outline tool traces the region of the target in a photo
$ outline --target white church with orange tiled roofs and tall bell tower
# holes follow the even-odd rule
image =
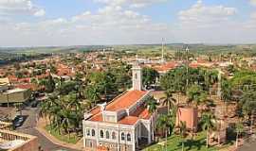
[[[86,150],[136,151],[155,138],[155,113],[145,107],[151,91],[142,87],[142,70],[132,68],[133,88],[108,104],[84,113],[83,145]]]

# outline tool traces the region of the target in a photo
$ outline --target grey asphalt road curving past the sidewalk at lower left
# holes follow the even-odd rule
[[[63,146],[51,143],[44,135],[42,135],[36,128],[36,118],[39,113],[39,109],[37,108],[26,108],[21,111],[23,116],[26,116],[26,121],[23,126],[18,127],[16,130],[19,132],[23,132],[26,134],[30,134],[33,136],[37,136],[39,143],[44,149],[44,151],[55,151],[59,149],[63,149],[66,151],[77,151],[70,148],[65,148]]]

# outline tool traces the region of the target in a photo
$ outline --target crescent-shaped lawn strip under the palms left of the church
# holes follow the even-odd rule
[[[70,137],[68,134],[66,135],[61,135],[58,131],[58,129],[52,129],[50,126],[46,126],[46,130],[54,136],[56,139],[64,142],[64,143],[77,143],[81,137],[78,137],[75,133],[71,133]]]

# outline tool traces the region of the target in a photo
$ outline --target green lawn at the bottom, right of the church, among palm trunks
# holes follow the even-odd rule
[[[162,140],[164,141],[164,140]],[[181,138],[177,135],[173,135],[168,138],[167,142],[167,150],[168,151],[181,151],[182,143]],[[164,144],[164,143],[163,143]],[[209,148],[206,147],[206,133],[200,132],[198,135],[193,139],[189,140],[187,139],[184,143],[184,151],[217,151],[222,148],[228,147],[231,143],[225,144],[221,147],[217,146],[211,146]],[[143,151],[165,151],[165,147],[161,146],[160,144],[153,144],[147,148],[145,148]]]

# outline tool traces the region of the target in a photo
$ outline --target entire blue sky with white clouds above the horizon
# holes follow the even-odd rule
[[[1,0],[0,46],[255,43],[256,0]]]

